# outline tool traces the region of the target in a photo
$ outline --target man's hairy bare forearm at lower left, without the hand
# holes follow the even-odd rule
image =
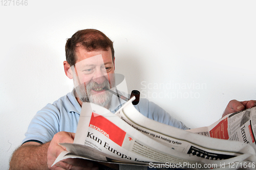
[[[47,166],[47,151],[49,144],[24,144],[12,155],[9,170],[49,169]]]

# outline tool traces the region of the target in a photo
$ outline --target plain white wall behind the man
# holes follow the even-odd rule
[[[15,1],[16,2],[16,1]],[[4,1],[3,1],[4,3]],[[9,4],[9,1],[8,1]],[[8,5],[7,4],[7,5]],[[0,168],[34,114],[72,90],[65,43],[95,28],[114,41],[129,91],[190,128],[256,99],[255,1],[31,1],[0,5]]]

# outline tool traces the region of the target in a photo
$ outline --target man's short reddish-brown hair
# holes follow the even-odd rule
[[[75,50],[82,45],[88,52],[111,48],[112,61],[114,61],[115,51],[113,42],[102,32],[95,29],[85,29],[77,31],[71,38],[67,39],[65,46],[66,60],[70,66],[76,63]]]

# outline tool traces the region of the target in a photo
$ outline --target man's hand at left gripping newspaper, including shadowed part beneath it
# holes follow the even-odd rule
[[[62,147],[58,143],[73,143],[74,138],[75,133],[71,132],[58,132],[53,136],[47,152],[47,165],[49,169],[98,169],[97,167],[93,167],[92,161],[75,158],[64,159],[52,166],[58,155],[62,151],[66,151],[66,148]]]

